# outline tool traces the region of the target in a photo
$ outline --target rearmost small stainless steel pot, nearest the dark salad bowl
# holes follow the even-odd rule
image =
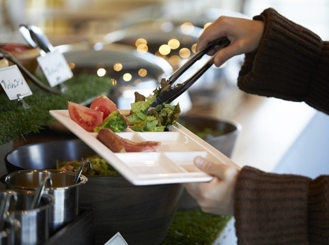
[[[44,193],[55,197],[55,204],[49,212],[50,235],[56,233],[78,215],[79,186],[87,182],[83,175],[77,184],[73,184],[75,173],[60,170],[22,170],[1,177],[7,188],[13,190],[36,190],[41,181],[49,176],[51,187]]]

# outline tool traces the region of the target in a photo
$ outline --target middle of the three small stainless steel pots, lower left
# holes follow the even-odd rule
[[[43,194],[40,206],[30,209],[35,191],[8,192],[13,192],[17,197],[15,202],[10,203],[8,210],[9,217],[20,223],[20,227],[14,231],[14,244],[43,244],[49,238],[49,211],[54,206],[55,198],[49,194]],[[6,192],[0,192],[0,200],[5,195]]]

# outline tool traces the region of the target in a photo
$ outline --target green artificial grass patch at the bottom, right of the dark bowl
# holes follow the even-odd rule
[[[178,211],[162,245],[212,245],[230,219],[200,209]]]

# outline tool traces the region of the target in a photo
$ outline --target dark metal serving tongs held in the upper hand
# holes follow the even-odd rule
[[[214,58],[217,52],[228,46],[230,41],[227,37],[221,37],[210,42],[206,47],[199,50],[195,55],[193,55],[188,61],[186,61],[180,68],[178,68],[168,79],[167,82],[170,86],[169,90],[161,92],[156,100],[153,102],[151,107],[155,107],[162,103],[171,103],[178,96],[180,96],[183,92],[185,92],[193,83],[195,83],[202,75],[205,73],[213,64]],[[185,82],[181,84],[174,85],[174,82],[196,61],[200,60],[201,57],[206,55],[212,49],[217,49],[215,55],[213,55],[199,70],[197,70],[190,78],[188,78]]]

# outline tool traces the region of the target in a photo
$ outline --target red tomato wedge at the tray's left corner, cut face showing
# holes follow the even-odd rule
[[[68,102],[70,118],[88,132],[92,132],[94,127],[103,122],[103,112],[95,111],[87,106]]]

